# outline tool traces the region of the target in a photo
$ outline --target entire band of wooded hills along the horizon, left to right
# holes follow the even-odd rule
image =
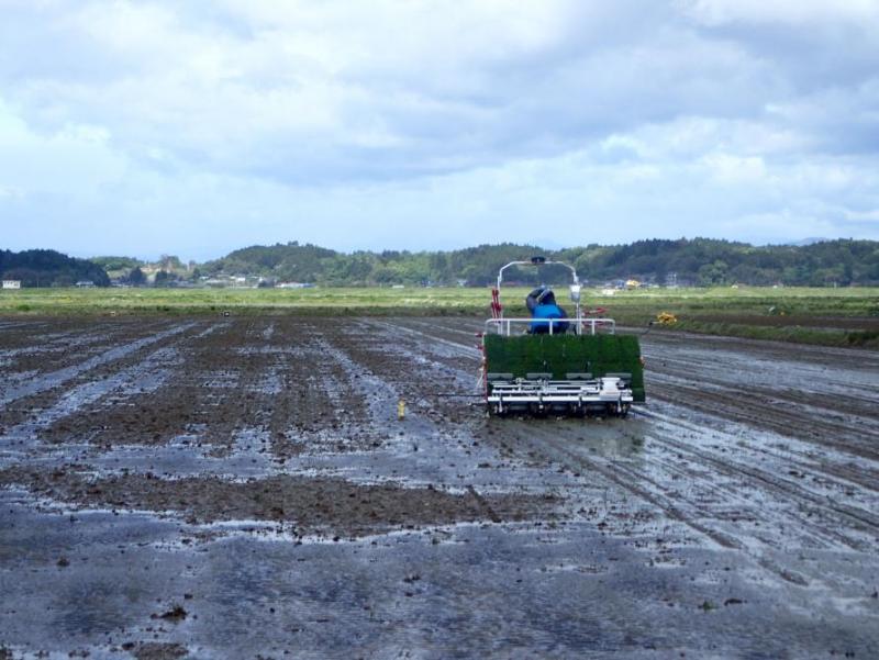
[[[593,284],[636,279],[658,284],[724,286],[869,286],[879,284],[879,242],[822,240],[811,245],[753,246],[710,238],[637,240],[626,245],[588,245],[558,250],[536,245],[504,243],[448,251],[338,253],[311,244],[291,242],[252,246],[201,265],[183,266],[177,257],[163,256],[151,282],[173,286],[180,280],[198,282],[223,276],[264,278],[267,282],[311,282],[322,286],[433,284],[482,287],[493,282],[509,261],[542,255],[571,264],[580,279]],[[147,283],[145,261],[131,257],[75,259],[54,250],[11,253],[0,250],[0,275],[24,287],[71,286],[90,280]],[[549,268],[549,267],[547,267]],[[539,275],[534,269],[511,269],[508,281],[535,283],[564,280],[564,271]]]

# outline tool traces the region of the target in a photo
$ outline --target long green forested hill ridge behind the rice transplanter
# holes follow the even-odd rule
[[[652,239],[560,250],[502,244],[453,251],[353,254],[289,243],[240,249],[205,264],[201,270],[340,286],[464,281],[469,286],[485,286],[494,281],[502,265],[534,255],[567,261],[577,268],[581,279],[592,283],[634,278],[699,286],[736,282],[813,287],[879,284],[879,242],[846,239],[760,247],[706,238]],[[530,281],[531,276],[510,272],[508,279]]]

